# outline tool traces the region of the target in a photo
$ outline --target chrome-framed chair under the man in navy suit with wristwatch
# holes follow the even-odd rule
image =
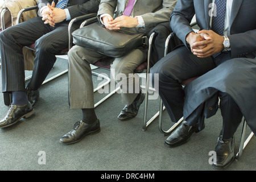
[[[192,23],[191,27],[195,26],[196,23]],[[168,38],[166,39],[166,49],[165,49],[165,55],[167,54],[167,49],[168,49],[168,45],[170,43],[170,40],[172,40],[172,38],[174,38],[175,34],[172,32]],[[183,85],[183,88],[189,84],[191,81],[195,80],[198,77],[191,77],[188,78],[187,80],[183,80],[181,82],[181,84]],[[163,118],[162,118],[162,114],[163,114],[163,110],[165,109],[165,107],[163,106],[163,102],[160,99],[160,109],[159,109],[159,130],[161,133],[163,133],[164,135],[168,135],[171,134],[179,125],[181,122],[183,122],[183,117],[179,119],[179,121],[177,121],[173,126],[170,127],[170,129],[168,130],[164,130],[162,127],[162,123],[163,123]],[[240,140],[240,146],[239,146],[239,150],[235,156],[236,159],[240,159],[242,156],[242,152],[244,150],[244,148],[246,147],[246,145],[249,143],[249,141],[251,140],[251,138],[253,137],[254,133],[251,132],[249,137],[247,137],[247,139],[245,139],[245,134],[246,134],[246,127],[247,127],[247,123],[245,121],[245,118],[242,118],[242,122],[243,122],[243,126],[242,126],[242,133],[241,133],[241,140]]]

